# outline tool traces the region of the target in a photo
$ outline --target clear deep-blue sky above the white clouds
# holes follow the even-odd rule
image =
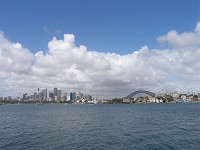
[[[130,54],[171,29],[191,31],[198,0],[1,0],[0,31],[33,53],[64,33],[89,50]]]

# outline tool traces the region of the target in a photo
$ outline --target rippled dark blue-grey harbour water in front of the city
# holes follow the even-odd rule
[[[200,150],[200,103],[0,106],[0,150]]]

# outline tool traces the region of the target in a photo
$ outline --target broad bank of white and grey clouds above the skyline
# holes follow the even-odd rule
[[[123,97],[138,89],[198,91],[200,23],[192,32],[171,30],[157,40],[169,47],[145,45],[132,54],[119,55],[90,51],[77,46],[73,34],[64,34],[62,40],[53,37],[47,53],[34,54],[0,32],[0,95],[21,96],[38,87],[82,91],[99,98]]]

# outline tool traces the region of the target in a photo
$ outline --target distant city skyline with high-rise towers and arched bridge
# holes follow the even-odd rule
[[[183,92],[183,91],[170,91],[170,92],[164,92],[164,93],[153,93],[151,91],[145,91],[145,90],[136,90],[132,93],[129,93],[129,95],[126,95],[124,97],[116,97],[115,95],[113,95],[113,97],[111,98],[113,99],[131,99],[131,98],[145,98],[145,97],[152,97],[152,98],[156,98],[162,95],[167,95],[167,96],[173,96],[174,98],[180,98],[177,96],[180,95],[187,95],[187,96],[198,96],[200,97],[200,93],[197,91],[187,91],[187,92]],[[28,101],[54,101],[54,102],[67,102],[67,101],[71,101],[71,102],[78,102],[80,100],[105,100],[105,99],[99,99],[98,97],[94,96],[94,95],[90,95],[89,93],[83,93],[81,91],[63,91],[62,89],[58,89],[57,87],[51,88],[50,89],[40,89],[37,88],[34,91],[30,92],[30,93],[23,93],[22,96],[18,96],[18,97],[12,97],[10,95],[7,96],[1,96],[0,95],[0,100],[28,100]],[[107,99],[109,100],[109,99]]]

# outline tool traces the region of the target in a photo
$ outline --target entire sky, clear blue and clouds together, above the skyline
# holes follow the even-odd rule
[[[200,92],[199,0],[0,0],[0,96]]]

